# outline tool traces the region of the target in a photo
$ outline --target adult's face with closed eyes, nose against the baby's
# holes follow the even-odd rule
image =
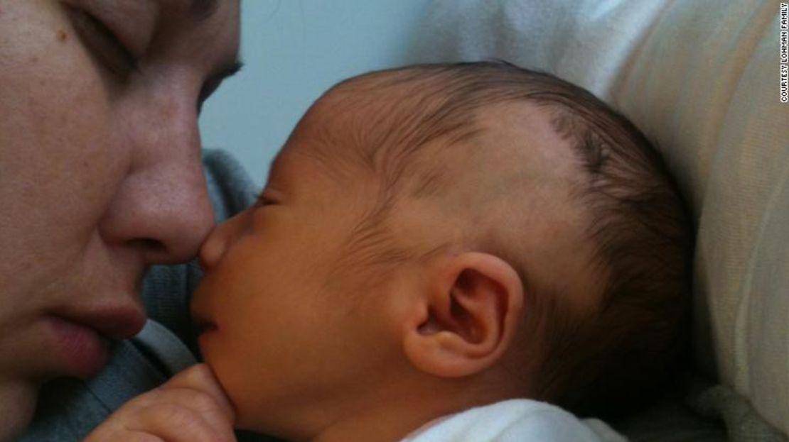
[[[144,269],[213,225],[196,118],[237,69],[238,8],[0,0],[0,440],[140,329]]]

